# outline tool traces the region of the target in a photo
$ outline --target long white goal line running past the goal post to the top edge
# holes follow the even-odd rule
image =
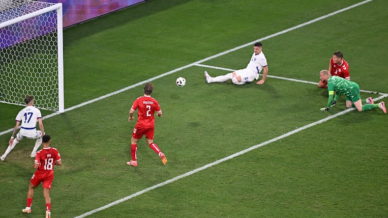
[[[95,99],[93,99],[93,100],[89,100],[89,101],[83,102],[83,103],[81,103],[81,104],[78,104],[78,105],[75,105],[75,106],[66,108],[64,112],[68,112],[68,111],[74,110],[75,108],[84,106],[84,105],[86,105],[86,104],[90,104],[90,103],[99,101],[99,100],[101,100],[101,99],[104,99],[104,98],[107,98],[107,97],[116,95],[116,94],[118,94],[118,93],[127,91],[127,90],[129,90],[129,89],[135,88],[135,87],[137,87],[137,86],[141,86],[141,85],[143,85],[143,84],[145,84],[145,83],[148,83],[148,82],[150,82],[150,81],[153,81],[153,80],[155,80],[155,79],[158,79],[158,78],[161,78],[161,77],[163,77],[163,76],[172,74],[172,73],[174,73],[174,72],[177,72],[177,71],[180,71],[180,70],[189,68],[189,67],[191,67],[191,66],[193,66],[193,65],[195,65],[195,64],[200,64],[200,63],[203,63],[203,62],[205,62],[205,61],[208,61],[208,60],[211,60],[211,59],[214,59],[214,58],[217,58],[217,57],[226,55],[227,53],[230,53],[230,52],[232,52],[232,51],[235,51],[235,50],[238,50],[238,49],[241,49],[241,48],[245,48],[245,47],[247,47],[247,46],[250,46],[250,45],[254,44],[255,42],[263,41],[263,40],[266,40],[266,39],[270,39],[270,38],[273,38],[273,37],[275,37],[275,36],[279,36],[279,35],[281,35],[281,34],[284,34],[284,33],[287,33],[287,32],[290,32],[290,31],[293,31],[293,30],[296,30],[296,29],[299,29],[299,28],[301,28],[301,27],[303,27],[303,26],[305,26],[305,25],[309,25],[309,24],[314,23],[314,22],[317,22],[317,21],[319,21],[319,20],[323,20],[323,19],[325,19],[325,18],[327,18],[327,17],[331,17],[331,16],[333,16],[333,15],[339,14],[339,13],[341,13],[341,12],[347,11],[347,10],[349,10],[349,9],[355,8],[355,7],[360,6],[360,5],[364,5],[364,4],[369,3],[369,2],[372,2],[372,1],[373,1],[373,0],[366,0],[366,1],[363,1],[363,2],[360,2],[360,3],[357,3],[357,4],[354,4],[354,5],[351,5],[351,6],[349,6],[349,7],[340,9],[340,10],[335,11],[335,12],[332,12],[332,13],[330,13],[330,14],[326,14],[326,15],[324,15],[324,16],[321,16],[321,17],[315,18],[315,19],[313,19],[313,20],[310,20],[310,21],[301,23],[301,24],[299,24],[299,25],[293,26],[292,28],[288,28],[288,29],[286,29],[286,30],[283,30],[283,31],[274,33],[274,34],[272,34],[272,35],[269,35],[269,36],[266,36],[266,37],[257,39],[257,40],[255,40],[255,41],[248,42],[248,43],[246,43],[246,44],[244,44],[244,45],[240,45],[240,46],[238,46],[238,47],[235,47],[235,48],[232,48],[232,49],[223,51],[223,52],[221,52],[221,53],[218,53],[217,55],[214,55],[214,56],[211,56],[211,57],[207,57],[207,58],[205,58],[205,59],[196,61],[196,62],[194,62],[194,63],[188,64],[188,65],[183,66],[183,67],[180,67],[180,68],[176,68],[176,69],[174,69],[174,70],[171,70],[171,71],[168,71],[168,72],[166,72],[166,73],[160,74],[160,75],[158,75],[158,76],[152,77],[152,78],[150,78],[150,79],[141,81],[141,82],[139,82],[139,83],[137,83],[137,84],[134,84],[134,85],[132,85],[132,86],[126,87],[126,88],[124,88],[124,89],[121,89],[121,90],[118,90],[118,91],[115,91],[115,92],[112,92],[112,93],[103,95],[103,96],[101,96],[101,97],[95,98]],[[61,113],[59,113],[59,112],[52,113],[52,114],[50,114],[50,115],[47,115],[47,116],[43,117],[42,120],[47,119],[47,118],[50,118],[50,117],[53,117],[53,116],[56,116],[56,115],[58,115],[58,114],[61,114]],[[8,129],[8,130],[5,130],[5,131],[2,131],[2,132],[0,132],[0,136],[3,135],[3,134],[6,134],[6,133],[8,133],[8,132],[12,132],[12,131],[13,131],[13,128],[12,128],[12,129]]]

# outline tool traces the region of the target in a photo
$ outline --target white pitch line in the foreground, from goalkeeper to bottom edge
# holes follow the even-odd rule
[[[388,96],[388,95],[387,95],[387,96]],[[385,97],[386,97],[386,96],[385,96]],[[384,98],[384,96],[380,96],[380,97],[376,98],[376,100],[380,100],[380,99],[382,99],[382,98]],[[83,218],[83,217],[85,217],[85,216],[91,215],[91,214],[96,213],[96,212],[98,212],[98,211],[107,209],[107,208],[109,208],[109,207],[111,207],[111,206],[120,204],[120,203],[122,203],[122,202],[124,202],[124,201],[127,201],[127,200],[130,200],[130,199],[132,199],[132,198],[134,198],[134,197],[136,197],[136,196],[139,196],[139,195],[141,195],[141,194],[144,194],[144,193],[146,193],[146,192],[149,192],[150,190],[153,190],[153,189],[155,189],[155,188],[158,188],[158,187],[167,185],[167,184],[169,184],[169,183],[171,183],[171,182],[174,182],[174,181],[176,181],[176,180],[178,180],[178,179],[185,178],[185,177],[190,176],[190,175],[192,175],[192,174],[194,174],[194,173],[198,173],[198,172],[200,172],[200,171],[202,171],[202,170],[205,170],[205,169],[207,169],[207,168],[210,168],[210,167],[213,167],[213,166],[215,166],[215,165],[218,165],[219,163],[222,163],[222,162],[224,162],[224,161],[226,161],[226,160],[229,160],[229,159],[231,159],[231,158],[233,158],[233,157],[240,156],[240,155],[245,154],[245,153],[247,153],[247,152],[249,152],[249,151],[252,151],[252,150],[254,150],[254,149],[256,149],[256,148],[259,148],[259,147],[262,147],[262,146],[264,146],[264,145],[267,145],[267,144],[276,142],[276,141],[281,140],[281,139],[283,139],[283,138],[286,138],[286,137],[288,137],[288,136],[290,136],[290,135],[292,135],[292,134],[295,134],[295,133],[297,133],[297,132],[300,132],[300,131],[302,131],[302,130],[305,130],[305,129],[307,129],[307,128],[310,128],[310,127],[312,127],[312,126],[321,124],[321,123],[323,123],[323,122],[326,122],[326,121],[331,120],[331,119],[333,119],[333,118],[336,118],[336,117],[338,117],[338,116],[341,116],[341,115],[343,115],[343,114],[346,114],[346,113],[348,113],[348,112],[350,112],[350,111],[353,111],[354,109],[355,109],[355,108],[353,108],[353,107],[352,107],[352,108],[348,108],[348,109],[345,110],[345,111],[342,111],[342,112],[340,112],[340,113],[334,114],[334,115],[329,116],[329,117],[326,117],[326,118],[321,119],[321,120],[319,120],[319,121],[316,121],[316,122],[314,122],[314,123],[310,123],[310,124],[305,125],[305,126],[303,126],[303,127],[297,128],[297,129],[295,129],[295,130],[292,130],[292,131],[290,131],[290,132],[287,132],[287,133],[285,133],[285,134],[282,134],[282,135],[280,135],[279,137],[276,137],[276,138],[274,138],[274,139],[272,139],[272,140],[268,140],[268,141],[266,141],[266,142],[263,142],[263,143],[260,143],[260,144],[258,144],[258,145],[252,146],[252,147],[250,147],[250,148],[247,148],[247,149],[245,149],[245,150],[242,150],[242,151],[237,152],[237,153],[235,153],[235,154],[232,154],[232,155],[230,155],[230,156],[224,157],[224,158],[219,159],[219,160],[217,160],[217,161],[214,161],[214,162],[212,162],[212,163],[208,163],[207,165],[205,165],[205,166],[203,166],[203,167],[197,168],[197,169],[195,169],[195,170],[192,170],[192,171],[187,172],[187,173],[185,173],[185,174],[182,174],[182,175],[180,175],[180,176],[176,176],[176,177],[174,177],[174,178],[172,178],[172,179],[169,179],[169,180],[166,180],[166,181],[161,182],[161,183],[159,183],[159,184],[156,184],[156,185],[154,185],[154,186],[148,187],[148,188],[146,188],[146,189],[141,190],[140,192],[137,192],[137,193],[135,193],[135,194],[129,195],[129,196],[127,196],[127,197],[124,197],[124,198],[122,198],[122,199],[119,199],[119,200],[117,200],[117,201],[114,201],[114,202],[112,202],[112,203],[110,203],[110,204],[107,204],[107,205],[105,205],[105,206],[99,207],[99,208],[97,208],[97,209],[91,210],[91,211],[89,211],[89,212],[86,212],[86,213],[81,214],[81,215],[79,215],[79,216],[76,216],[76,217],[74,217],[74,218]],[[326,113],[326,112],[321,112],[321,113]]]

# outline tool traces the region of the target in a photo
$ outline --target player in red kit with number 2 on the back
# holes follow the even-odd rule
[[[160,109],[158,101],[151,97],[151,93],[154,90],[154,86],[151,83],[147,83],[144,86],[144,95],[138,97],[129,111],[128,121],[134,120],[133,113],[137,111],[137,123],[133,129],[131,139],[131,156],[132,160],[127,162],[127,165],[137,167],[137,142],[145,135],[145,141],[152,150],[155,151],[162,159],[164,165],[167,163],[166,156],[160,151],[158,145],[154,143],[154,127],[155,127],[155,112],[158,117],[162,117],[162,110]]]

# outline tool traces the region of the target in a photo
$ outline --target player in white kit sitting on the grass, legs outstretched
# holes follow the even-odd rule
[[[262,44],[256,42],[253,46],[253,55],[251,61],[245,69],[236,70],[233,73],[228,73],[226,75],[221,75],[217,77],[211,77],[205,71],[206,83],[222,83],[228,79],[232,80],[232,83],[235,85],[243,85],[246,83],[251,83],[254,79],[259,79],[259,73],[263,69],[263,77],[261,80],[257,81],[256,84],[263,84],[268,73],[267,60],[265,59],[264,53],[262,52]]]

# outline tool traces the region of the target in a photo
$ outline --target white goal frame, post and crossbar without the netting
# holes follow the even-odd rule
[[[0,0],[3,1],[3,0]],[[4,1],[5,2],[5,1]],[[37,2],[37,1],[31,1],[31,0],[25,0],[25,2]],[[43,3],[43,2],[42,2]],[[46,3],[45,4],[49,4]],[[1,9],[1,8],[0,8]],[[5,22],[0,23],[0,29],[5,28],[9,25],[15,24],[17,22],[27,20],[42,14],[45,14],[50,11],[56,10],[56,30],[57,30],[57,75],[58,75],[58,109],[52,110],[52,111],[58,111],[60,113],[63,113],[65,111],[65,105],[64,105],[64,67],[63,67],[63,15],[62,15],[62,3],[52,3],[52,6],[22,15],[20,17],[15,17],[13,19],[7,20]],[[21,42],[23,43],[23,42]],[[25,96],[24,96],[25,97]],[[23,98],[24,98],[23,97]],[[7,101],[0,101],[4,103],[10,103],[10,104],[17,104],[17,105],[24,105],[24,102],[7,102]],[[39,106],[38,106],[39,107]],[[50,110],[47,108],[43,108],[46,110]]]

